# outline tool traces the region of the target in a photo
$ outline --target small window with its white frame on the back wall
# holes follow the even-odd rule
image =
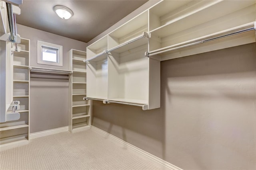
[[[62,45],[37,41],[37,63],[62,66]]]

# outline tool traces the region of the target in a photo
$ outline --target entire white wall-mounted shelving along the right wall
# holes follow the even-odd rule
[[[254,43],[255,30],[255,0],[162,0],[87,47],[87,97],[158,108],[160,61]]]

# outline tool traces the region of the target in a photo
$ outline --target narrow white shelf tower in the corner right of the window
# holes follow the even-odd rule
[[[86,52],[71,49],[69,51],[69,69],[72,75],[69,79],[69,131],[75,132],[90,127],[91,101],[84,100],[86,97]]]

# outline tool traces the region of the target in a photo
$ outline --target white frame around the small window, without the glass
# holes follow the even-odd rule
[[[58,50],[58,62],[52,62],[52,61],[44,61],[42,60],[42,48],[43,47],[49,47],[52,49]],[[57,45],[53,43],[47,43],[44,41],[37,41],[37,64],[46,64],[46,65],[52,65],[52,66],[63,66],[63,59],[62,59],[62,45]]]

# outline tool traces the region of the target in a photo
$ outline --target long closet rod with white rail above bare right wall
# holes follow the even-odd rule
[[[185,47],[190,47],[190,46],[198,45],[198,44],[201,44],[201,43],[206,43],[206,42],[213,41],[213,40],[216,40],[216,39],[229,37],[231,35],[236,35],[236,34],[244,33],[244,32],[247,32],[247,31],[252,31],[252,30],[256,31],[256,22],[254,22],[254,27],[249,27],[249,28],[246,28],[246,29],[242,29],[242,30],[235,31],[235,32],[232,32],[232,33],[228,33],[228,34],[225,34],[225,35],[221,35],[221,36],[218,36],[218,37],[213,37],[213,38],[204,39],[204,40],[201,40],[201,41],[196,41],[194,43],[189,43],[189,44],[186,44],[186,45],[180,45],[178,47],[173,47],[171,49],[166,49],[166,50],[160,49],[160,50],[155,50],[155,51],[152,51],[152,52],[146,52],[146,56],[151,57],[153,55],[167,53],[167,52],[174,51],[174,50],[177,50],[177,49],[182,49],[182,48],[185,48]]]

